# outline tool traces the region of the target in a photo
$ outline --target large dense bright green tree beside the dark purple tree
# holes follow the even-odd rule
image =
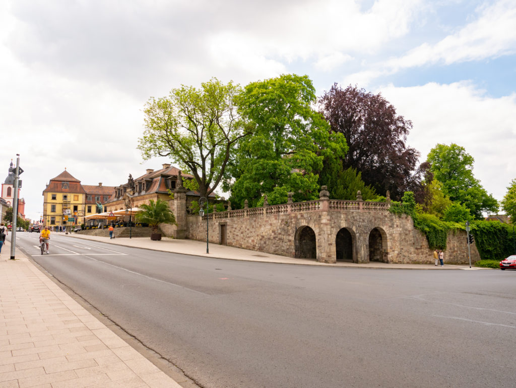
[[[284,74],[244,88],[238,99],[241,114],[253,135],[239,142],[225,179],[224,191],[242,207],[256,206],[268,196],[270,205],[318,198],[318,172],[325,158],[343,157],[342,134],[330,134],[326,120],[316,112],[315,88],[307,75]]]

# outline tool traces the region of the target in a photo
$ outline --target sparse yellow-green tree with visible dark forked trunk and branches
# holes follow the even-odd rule
[[[231,150],[247,136],[235,105],[238,85],[216,78],[197,89],[182,86],[144,106],[145,127],[138,149],[143,159],[169,156],[193,175],[201,196],[219,185]]]

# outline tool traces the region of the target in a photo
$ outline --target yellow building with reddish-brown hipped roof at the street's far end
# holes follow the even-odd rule
[[[104,204],[112,196],[112,186],[83,185],[65,168],[52,178],[43,190],[43,217],[45,226],[78,226],[84,217],[105,210]]]

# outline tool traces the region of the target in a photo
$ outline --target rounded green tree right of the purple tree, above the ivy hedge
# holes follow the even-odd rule
[[[482,212],[497,212],[498,202],[473,175],[473,157],[457,144],[438,144],[430,150],[428,162],[434,177],[442,183],[450,200],[470,209],[475,219]]]

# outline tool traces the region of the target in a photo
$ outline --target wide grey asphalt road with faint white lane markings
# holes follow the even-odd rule
[[[53,235],[18,245],[195,379],[231,388],[515,385],[516,271],[210,259]]]

